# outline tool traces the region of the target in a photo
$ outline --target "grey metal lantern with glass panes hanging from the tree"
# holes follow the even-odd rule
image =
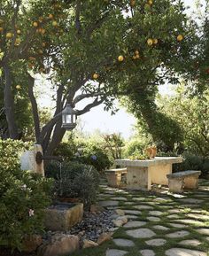
[[[62,128],[74,129],[76,127],[77,115],[71,105],[66,105],[62,111]]]

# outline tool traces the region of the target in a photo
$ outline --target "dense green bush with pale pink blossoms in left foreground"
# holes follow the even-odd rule
[[[22,171],[19,141],[0,141],[0,244],[21,249],[26,235],[43,231],[43,209],[50,204],[51,180]]]

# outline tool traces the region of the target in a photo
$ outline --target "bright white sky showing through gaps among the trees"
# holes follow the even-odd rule
[[[203,4],[204,0],[201,0],[200,2]],[[190,10],[187,11],[188,13],[196,8],[196,1],[194,0],[184,0],[184,3],[190,6]],[[172,87],[167,84],[160,86],[159,93],[161,95],[171,94]],[[49,97],[44,97],[44,95],[49,95],[49,90],[46,89],[46,91],[42,91],[42,95],[43,97],[40,98],[41,105],[50,106],[51,102]],[[115,101],[115,104],[118,105],[117,101]],[[81,106],[77,108],[80,109]],[[120,133],[121,136],[128,139],[130,136],[134,135],[134,126],[136,120],[132,114],[128,113],[126,109],[122,108],[121,106],[120,110],[116,112],[116,114],[111,115],[110,112],[104,112],[104,105],[99,105],[92,108],[90,112],[83,114],[80,117],[79,122],[80,127],[82,127],[82,131],[87,134],[93,134],[97,130],[100,130],[100,132],[108,134]]]

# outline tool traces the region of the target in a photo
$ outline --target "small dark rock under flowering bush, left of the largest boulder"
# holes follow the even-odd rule
[[[33,252],[43,243],[43,239],[40,235],[26,236],[23,240],[23,251]]]

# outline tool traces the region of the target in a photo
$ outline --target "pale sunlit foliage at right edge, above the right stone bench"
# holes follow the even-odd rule
[[[191,96],[183,85],[176,89],[174,97],[159,99],[162,112],[182,129],[182,144],[192,154],[209,156],[209,90],[201,96]]]

